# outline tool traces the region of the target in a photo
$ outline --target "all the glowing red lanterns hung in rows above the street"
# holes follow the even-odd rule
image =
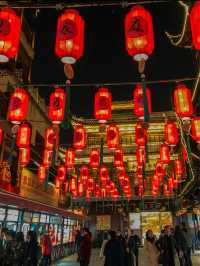
[[[192,40],[195,49],[200,50],[200,30],[199,30],[200,2],[197,1],[190,12],[190,24]],[[19,17],[11,8],[3,8],[0,11],[0,62],[8,62],[14,58],[18,52],[21,23]],[[134,6],[125,16],[125,44],[128,54],[138,62],[138,71],[141,74],[141,84],[138,84],[133,92],[134,114],[139,121],[135,127],[136,159],[137,159],[137,182],[139,184],[138,194],[143,195],[146,188],[144,172],[147,158],[147,134],[149,115],[152,112],[151,93],[146,88],[145,81],[145,61],[154,50],[154,33],[151,14],[141,6]],[[84,30],[85,24],[79,12],[74,9],[66,9],[58,17],[57,32],[55,41],[55,54],[65,64],[66,73],[73,76],[72,69],[68,65],[74,64],[83,56],[84,52]],[[70,72],[70,71],[71,72]],[[43,151],[42,164],[38,167],[38,177],[41,182],[45,180],[46,170],[52,165],[54,150],[58,149],[59,126],[65,118],[67,108],[66,91],[56,88],[50,95],[50,106],[48,110],[52,127],[45,131],[45,145]],[[16,143],[19,148],[19,164],[24,167],[30,161],[30,137],[31,128],[26,122],[29,105],[29,94],[22,88],[16,88],[11,95],[7,119],[12,124],[18,125]],[[178,84],[174,90],[174,107],[178,117],[185,121],[190,121],[193,115],[191,92],[184,84]],[[99,88],[95,94],[94,117],[100,124],[105,124],[112,118],[112,94],[108,88]],[[200,118],[194,117],[191,122],[191,134],[197,143],[200,142]],[[0,131],[2,140],[3,131]],[[14,139],[15,140],[15,139]],[[123,149],[120,147],[120,131],[117,125],[111,124],[106,128],[106,141],[109,149],[114,150],[114,167],[117,171],[118,183],[127,199],[132,196],[131,180],[126,175],[124,166]],[[152,195],[157,196],[160,181],[165,175],[165,168],[170,163],[169,146],[176,146],[179,142],[178,128],[174,121],[167,121],[165,125],[165,143],[160,146],[160,160],[156,164],[155,175],[152,178]],[[83,125],[79,125],[74,130],[73,148],[66,150],[65,164],[57,167],[56,186],[65,183],[66,191],[70,191],[73,197],[90,199],[91,194],[95,197],[111,196],[113,199],[119,197],[119,188],[116,183],[109,178],[109,171],[105,165],[101,164],[101,154],[99,149],[90,151],[90,168],[99,169],[100,183],[89,174],[87,165],[80,168],[80,179],[71,175],[70,180],[66,180],[68,172],[72,172],[75,167],[76,151],[86,148],[87,132]],[[164,182],[163,191],[165,195],[170,195],[173,189],[177,188],[175,176],[181,178],[183,175],[182,161],[174,161],[175,172],[168,177],[168,183]],[[174,174],[175,173],[175,174]],[[86,190],[85,190],[86,189]]]

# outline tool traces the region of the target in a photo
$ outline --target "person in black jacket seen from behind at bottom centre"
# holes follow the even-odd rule
[[[116,237],[115,231],[109,232],[111,239],[104,248],[104,266],[124,266],[124,250],[120,240]]]

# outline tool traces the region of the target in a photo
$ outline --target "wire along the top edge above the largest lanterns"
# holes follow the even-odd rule
[[[123,8],[128,7],[130,5],[143,5],[143,4],[163,4],[163,3],[172,3],[172,0],[151,0],[151,1],[112,1],[110,3],[101,1],[97,3],[57,3],[57,4],[31,4],[31,3],[16,3],[6,5],[5,3],[1,3],[0,7],[9,6],[14,9],[57,9],[62,10],[64,8],[83,8],[83,7],[105,7],[105,6],[121,6]]]

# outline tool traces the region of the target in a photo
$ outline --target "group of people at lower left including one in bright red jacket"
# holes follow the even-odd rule
[[[22,232],[1,229],[0,266],[49,266],[51,252],[51,238],[47,233],[38,242],[35,231],[29,231],[24,239]]]

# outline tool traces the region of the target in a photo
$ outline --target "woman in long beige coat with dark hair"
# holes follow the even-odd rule
[[[144,243],[146,250],[146,264],[145,266],[158,266],[159,251],[156,247],[156,237],[152,230],[146,232],[146,239]]]

